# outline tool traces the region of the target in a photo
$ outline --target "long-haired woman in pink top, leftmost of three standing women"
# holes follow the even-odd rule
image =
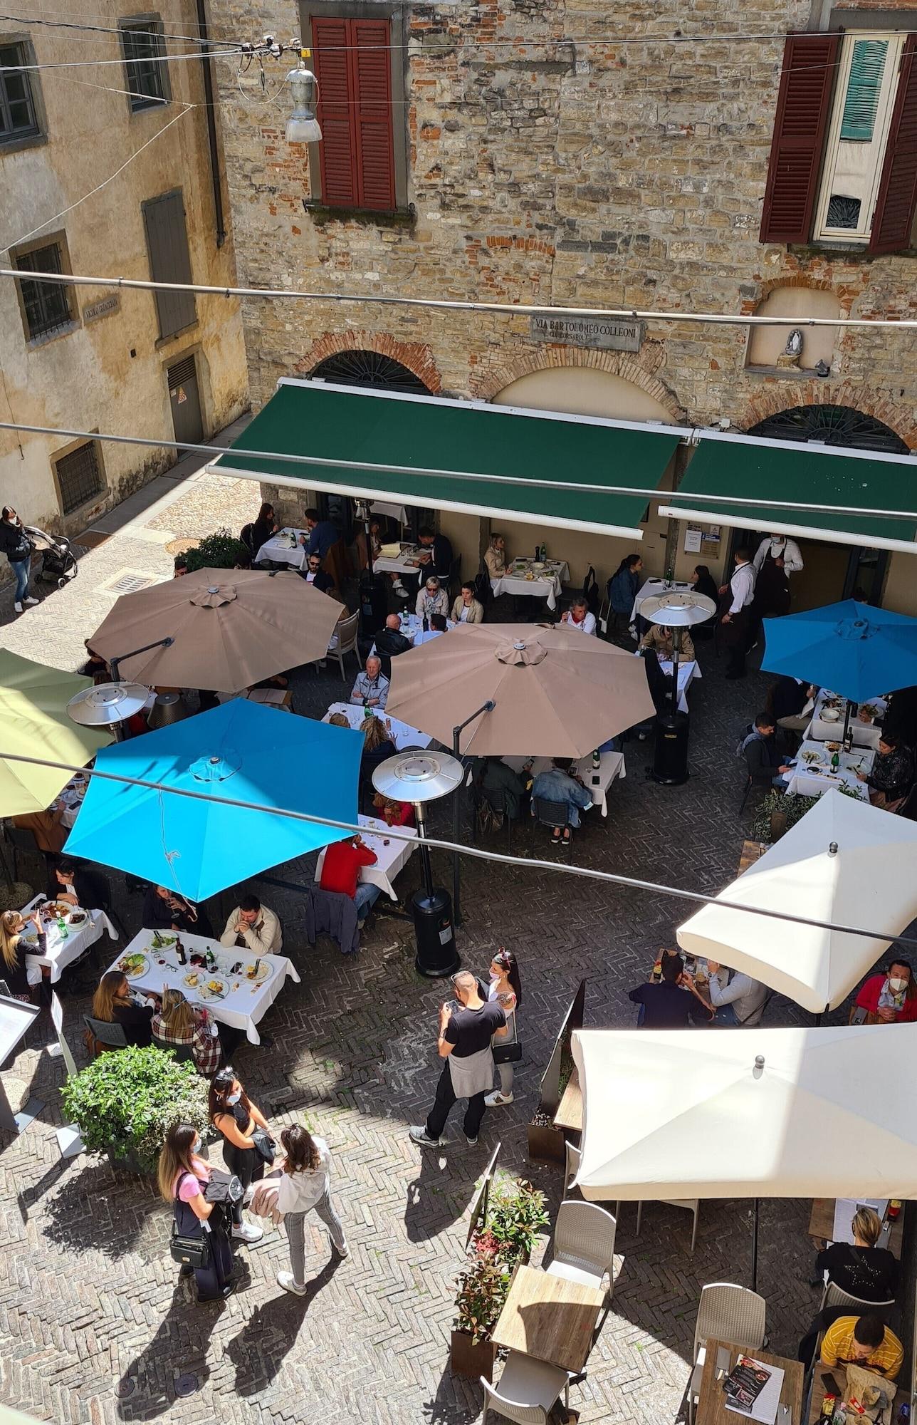
[[[198,1157],[201,1134],[191,1123],[174,1123],[159,1153],[159,1196],[172,1203],[175,1226],[182,1237],[201,1237],[206,1231],[209,1263],[194,1268],[198,1301],[222,1301],[235,1290],[232,1281],[232,1243],[225,1230],[225,1216],[204,1196],[211,1166]],[[206,1226],[205,1226],[206,1224]],[[182,1268],[187,1275],[187,1268]]]

